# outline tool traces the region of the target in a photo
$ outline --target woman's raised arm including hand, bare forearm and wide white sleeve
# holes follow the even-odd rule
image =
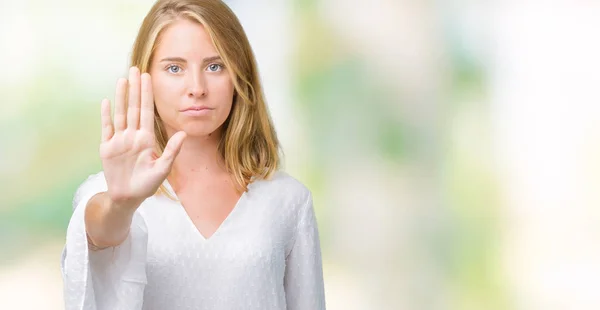
[[[61,260],[67,310],[142,309],[148,230],[136,209],[165,180],[185,139],[174,134],[155,156],[153,98],[150,75],[132,67],[129,80],[117,82],[114,122],[102,100],[104,170],[75,194]]]

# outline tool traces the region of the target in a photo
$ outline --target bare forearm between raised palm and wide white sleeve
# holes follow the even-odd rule
[[[85,210],[85,227],[90,249],[118,246],[125,241],[133,214],[140,203],[115,203],[106,192],[92,197]]]

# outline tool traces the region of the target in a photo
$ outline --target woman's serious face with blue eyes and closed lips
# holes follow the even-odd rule
[[[157,43],[149,73],[167,135],[219,132],[231,111],[234,88],[204,26],[178,20],[163,30]]]

